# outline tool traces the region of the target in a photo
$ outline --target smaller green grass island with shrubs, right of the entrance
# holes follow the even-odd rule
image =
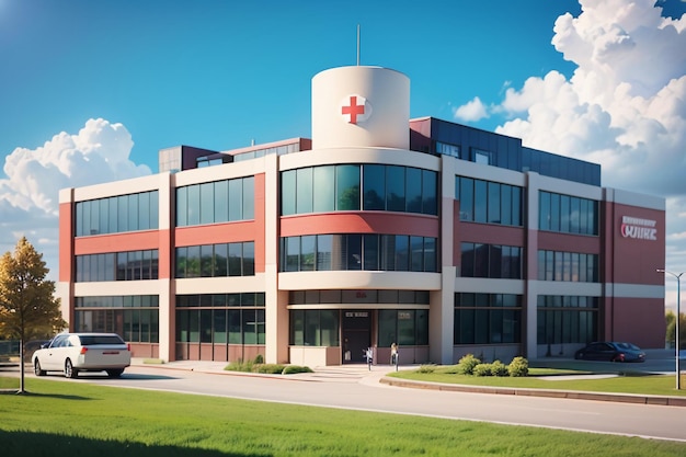
[[[413,379],[427,382],[461,384],[468,386],[489,387],[515,387],[530,389],[554,389],[554,390],[583,390],[593,392],[611,393],[636,393],[649,396],[674,396],[686,397],[686,389],[676,390],[676,378],[674,375],[647,375],[640,372],[627,370],[617,377],[602,379],[559,379],[559,375],[585,375],[588,372],[574,369],[554,368],[529,368],[528,377],[478,377],[457,375],[446,372],[451,367],[437,366],[434,373],[419,373],[418,370],[403,370],[391,373],[388,376]],[[542,379],[541,377],[552,379]],[[686,386],[686,376],[682,374],[682,386]]]

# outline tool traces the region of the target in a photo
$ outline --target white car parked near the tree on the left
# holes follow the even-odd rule
[[[62,372],[76,378],[79,372],[106,372],[111,378],[132,364],[128,344],[116,333],[60,333],[34,352],[36,376]]]

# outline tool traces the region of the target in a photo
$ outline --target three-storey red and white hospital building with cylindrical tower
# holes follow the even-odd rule
[[[312,79],[311,141],[179,148],[158,174],[62,190],[70,330],[128,335],[137,357],[309,366],[367,346],[386,363],[391,342],[441,364],[664,346],[664,199],[409,113],[404,75],[335,68]]]

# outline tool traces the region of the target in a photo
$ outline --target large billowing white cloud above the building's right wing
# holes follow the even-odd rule
[[[572,78],[508,87],[491,107],[508,117],[496,132],[601,163],[604,186],[667,197],[666,267],[686,271],[686,14],[662,18],[654,0],[580,3],[553,27]]]

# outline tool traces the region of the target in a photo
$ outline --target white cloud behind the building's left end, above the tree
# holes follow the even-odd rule
[[[55,135],[36,149],[16,148],[0,179],[0,253],[13,251],[22,236],[44,254],[57,278],[58,193],[65,187],[150,174],[129,160],[134,141],[122,124],[89,119],[76,135]]]

